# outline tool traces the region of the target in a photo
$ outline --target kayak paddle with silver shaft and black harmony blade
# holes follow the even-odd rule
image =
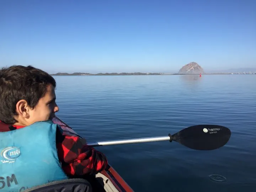
[[[224,146],[228,142],[230,136],[230,130],[224,126],[196,125],[182,129],[173,135],[169,134],[168,136],[91,142],[87,143],[87,145],[94,147],[169,140],[170,142],[175,141],[195,150],[213,150]]]

